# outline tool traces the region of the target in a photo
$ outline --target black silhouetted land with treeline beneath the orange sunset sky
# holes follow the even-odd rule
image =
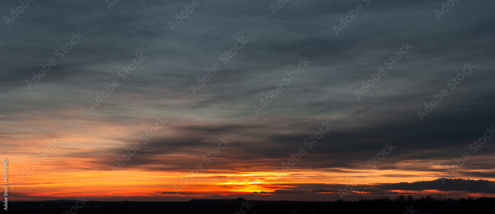
[[[431,198],[430,198],[431,199]],[[494,214],[495,198],[476,200],[388,199],[305,202],[241,199],[188,202],[99,202],[75,207],[76,201],[9,202],[11,214]]]

